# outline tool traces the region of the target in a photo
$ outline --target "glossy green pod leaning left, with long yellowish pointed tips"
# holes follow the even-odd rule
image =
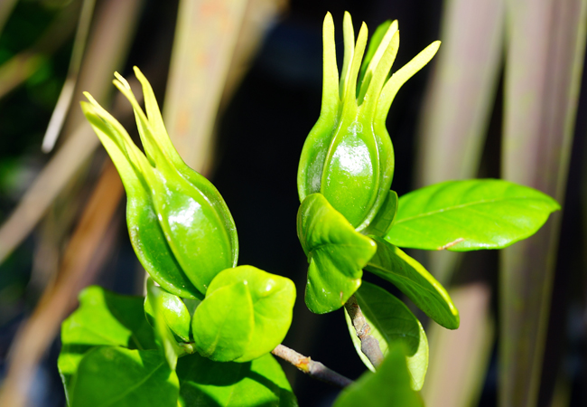
[[[172,146],[151,85],[135,74],[146,115],[117,73],[114,84],[133,106],[145,154],[89,93],[81,106],[125,185],[128,231],[144,269],[174,295],[203,298],[219,271],[237,265],[237,230],[218,190]]]

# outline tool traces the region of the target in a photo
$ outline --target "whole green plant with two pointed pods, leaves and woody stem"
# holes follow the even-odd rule
[[[397,90],[429,62],[433,43],[389,76],[399,44],[396,22],[367,27],[355,43],[344,19],[339,73],[331,15],[324,21],[321,116],[298,171],[298,237],[309,261],[305,302],[315,313],[345,309],[368,372],[351,383],[280,345],[295,288],[284,277],[237,266],[235,222],[216,188],[172,147],[142,73],[146,115],[129,99],[144,154],[86,94],[82,109],[111,156],[128,196],[127,223],[150,275],[146,298],[85,289],[61,329],[59,368],[71,406],[296,405],[270,353],[345,387],[336,406],[422,405],[428,344],[422,324],[398,298],[362,281],[387,279],[443,327],[459,327],[446,290],[398,247],[499,249],[536,232],[559,205],[531,188],[499,180],[431,185],[397,198],[385,121]],[[365,53],[365,55],[363,55]],[[363,58],[364,57],[364,58]],[[157,283],[157,285],[155,284]]]

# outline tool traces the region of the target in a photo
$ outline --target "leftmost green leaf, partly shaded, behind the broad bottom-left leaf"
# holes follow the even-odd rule
[[[91,286],[79,293],[79,308],[61,325],[57,366],[70,398],[71,377],[83,355],[97,345],[156,349],[153,329],[144,318],[142,297],[121,296]]]

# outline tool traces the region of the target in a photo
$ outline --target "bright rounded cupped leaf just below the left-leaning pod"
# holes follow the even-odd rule
[[[194,346],[219,362],[271,352],[292,323],[295,286],[252,266],[224,270],[210,283],[191,322]]]

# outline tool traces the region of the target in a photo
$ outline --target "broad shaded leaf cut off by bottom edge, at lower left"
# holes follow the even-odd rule
[[[79,363],[70,407],[175,407],[178,396],[177,375],[158,351],[100,346]]]

